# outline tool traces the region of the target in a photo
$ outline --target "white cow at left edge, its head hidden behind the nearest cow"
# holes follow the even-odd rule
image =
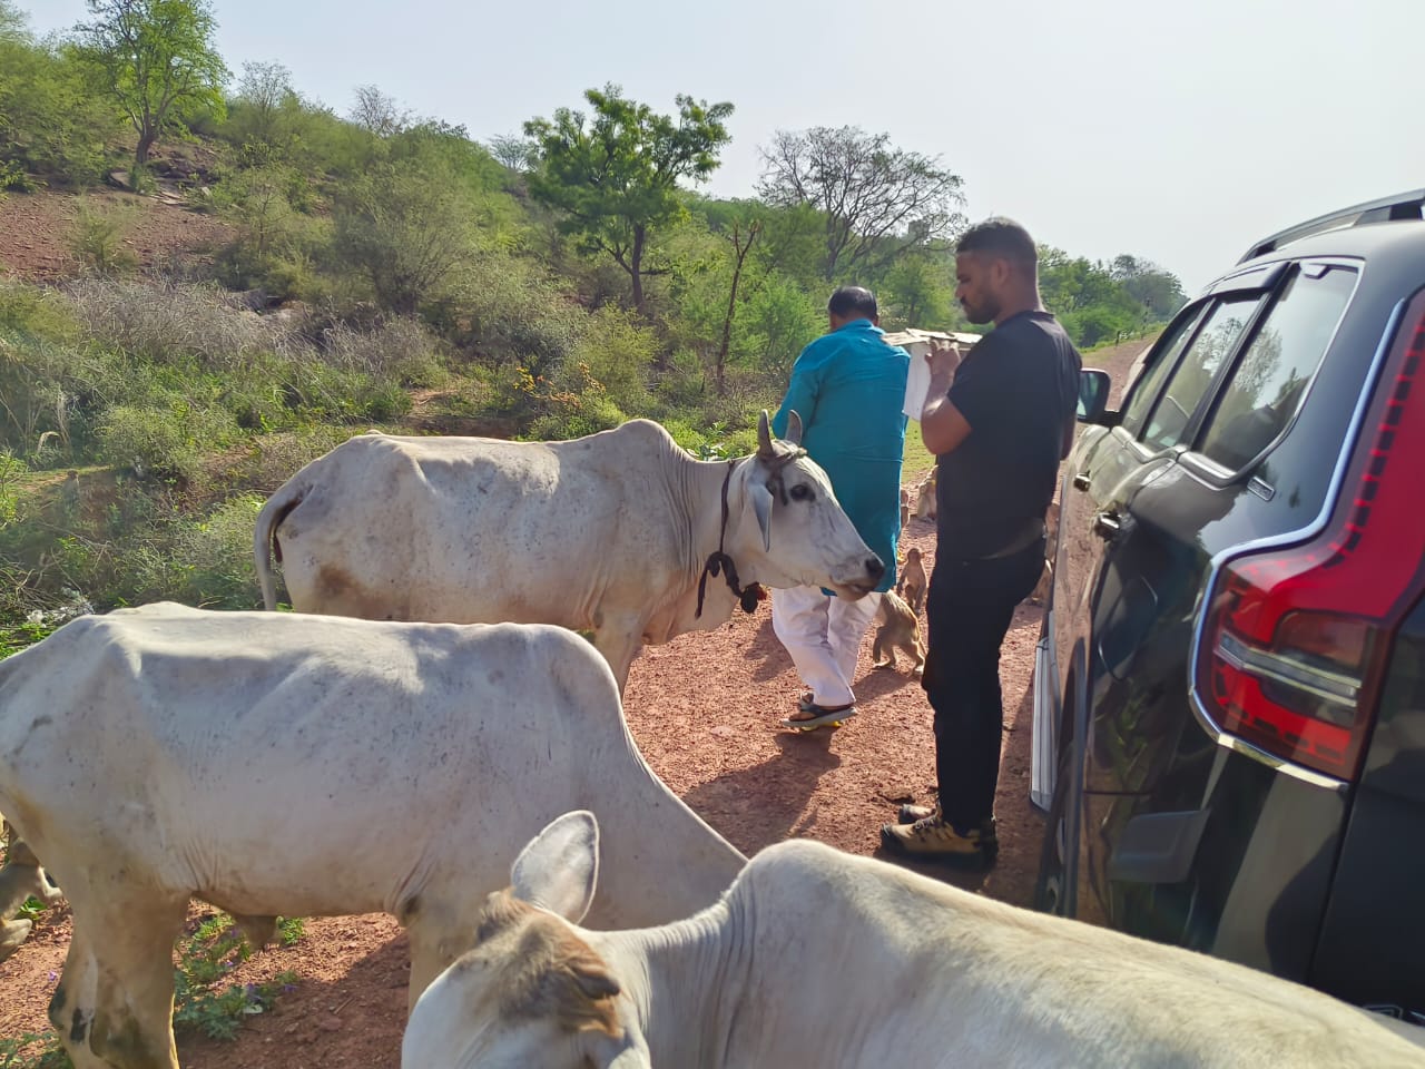
[[[373,623],[177,604],[66,624],[0,661],[0,811],[64,885],[50,1019],[77,1069],[172,1069],[190,897],[275,915],[383,911],[410,1001],[470,946],[532,822],[607,814],[593,915],[714,902],[745,862],[648,768],[608,666],[547,626]]]

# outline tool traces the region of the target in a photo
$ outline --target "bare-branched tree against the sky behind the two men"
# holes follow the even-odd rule
[[[778,130],[762,148],[758,194],[781,207],[807,204],[824,217],[822,279],[866,277],[916,244],[963,222],[960,178],[856,127]]]

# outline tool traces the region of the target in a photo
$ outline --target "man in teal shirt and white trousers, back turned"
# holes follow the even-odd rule
[[[792,366],[772,432],[787,433],[787,415],[802,420],[802,446],[831,476],[841,507],[861,539],[886,562],[878,592],[895,586],[901,534],[901,458],[905,452],[905,382],[911,356],[888,345],[869,289],[844,286],[826,304],[831,329]],[[772,629],[807,686],[785,727],[819,727],[856,713],[851,690],[881,593],[858,601],[819,587],[772,594]]]

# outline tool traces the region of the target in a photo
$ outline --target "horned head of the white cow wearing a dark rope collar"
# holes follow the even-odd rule
[[[738,465],[728,487],[742,505],[728,553],[744,583],[821,586],[864,597],[885,574],[878,557],[842,512],[831,479],[801,448],[801,416],[787,420],[787,440],[771,436],[767,412],[757,422],[757,452]]]

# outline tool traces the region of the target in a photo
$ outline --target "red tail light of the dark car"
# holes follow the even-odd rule
[[[1196,691],[1226,733],[1352,780],[1391,634],[1425,560],[1425,298],[1387,363],[1332,523],[1312,542],[1224,564],[1206,599]]]

